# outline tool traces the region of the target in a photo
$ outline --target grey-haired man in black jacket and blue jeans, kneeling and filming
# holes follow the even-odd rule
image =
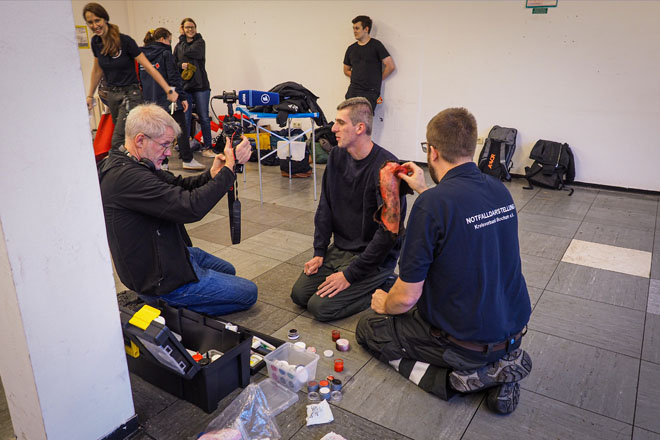
[[[212,316],[245,310],[256,302],[257,286],[235,276],[229,262],[192,247],[184,224],[201,220],[230,191],[250,144],[246,138],[235,149],[227,144],[209,170],[175,177],[161,165],[180,130],[161,107],[137,106],[126,120],[124,146],[99,163],[117,273],[147,303],[160,298]]]

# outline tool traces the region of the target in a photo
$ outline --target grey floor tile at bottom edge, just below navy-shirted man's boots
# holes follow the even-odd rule
[[[337,405],[414,439],[454,440],[461,438],[482,399],[473,394],[442,401],[372,359]]]

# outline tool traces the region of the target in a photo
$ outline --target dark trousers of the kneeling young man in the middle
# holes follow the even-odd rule
[[[330,246],[323,259],[323,265],[314,275],[301,273],[291,289],[291,299],[301,307],[306,307],[319,321],[332,321],[354,315],[369,308],[371,294],[378,289],[391,269],[379,269],[366,278],[356,281],[332,298],[316,295],[321,283],[336,272],[344,271],[360,254],[342,251]]]

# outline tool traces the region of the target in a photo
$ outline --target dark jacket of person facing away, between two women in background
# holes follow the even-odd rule
[[[186,99],[186,92],[183,90],[181,72],[176,67],[174,55],[172,55],[172,47],[168,44],[155,41],[140,49],[154,66],[154,69],[158,70],[158,73],[163,76],[165,81],[170,86],[174,86],[176,92],[179,94],[177,103],[179,104],[179,108],[182,108],[181,100]],[[140,66],[140,82],[142,83],[142,96],[145,102],[156,103],[169,112],[170,102],[167,100],[165,91],[142,66]]]

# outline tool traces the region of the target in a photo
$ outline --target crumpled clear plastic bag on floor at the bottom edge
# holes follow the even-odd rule
[[[240,434],[240,436],[239,436]],[[276,440],[281,438],[268,403],[258,385],[248,385],[206,427],[199,440]]]

